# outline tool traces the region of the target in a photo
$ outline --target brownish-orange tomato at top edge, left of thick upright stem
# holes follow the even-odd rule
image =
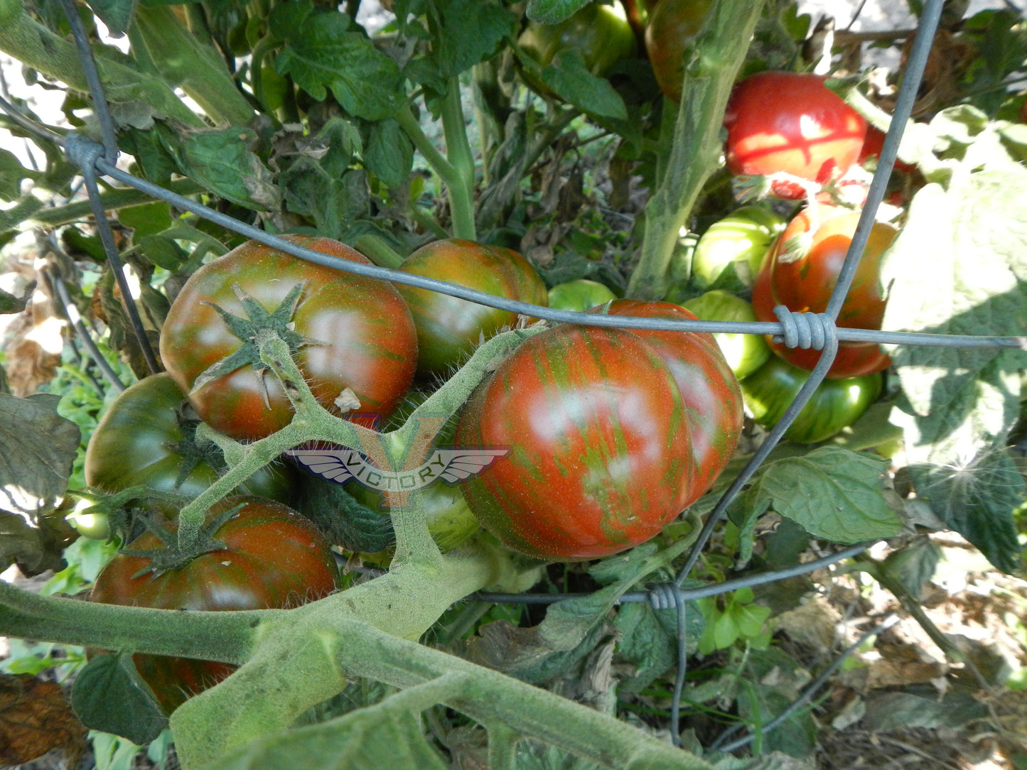
[[[674,102],[681,101],[685,48],[702,29],[712,5],[713,0],[662,0],[649,15],[646,52],[660,90]]]

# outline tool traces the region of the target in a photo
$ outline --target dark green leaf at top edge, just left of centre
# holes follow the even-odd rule
[[[436,61],[442,77],[451,78],[491,59],[499,44],[517,32],[517,16],[487,0],[451,0],[443,7],[443,37]]]

